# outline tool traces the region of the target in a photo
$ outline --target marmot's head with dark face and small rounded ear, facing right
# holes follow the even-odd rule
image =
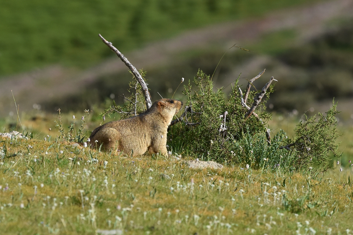
[[[173,116],[180,111],[183,102],[173,99],[161,99],[153,103],[152,106],[155,106],[158,112],[170,123]]]

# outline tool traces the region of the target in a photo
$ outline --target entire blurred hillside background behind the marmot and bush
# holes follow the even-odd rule
[[[278,82],[270,110],[325,111],[335,98],[353,122],[353,0],[0,0],[0,117],[20,111],[97,109],[127,93],[131,74],[98,33],[137,69],[153,100],[171,97],[198,69],[216,87],[264,68]],[[181,90],[176,97],[183,99]],[[289,115],[289,114],[288,114]]]

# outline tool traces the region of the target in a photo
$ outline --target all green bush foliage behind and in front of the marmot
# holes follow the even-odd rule
[[[201,160],[279,171],[283,168],[305,170],[315,165],[327,169],[329,154],[340,157],[335,143],[339,137],[335,118],[339,112],[335,103],[325,116],[322,113],[313,117],[304,115],[304,120],[294,129],[293,138],[280,130],[269,143],[265,131],[271,114],[265,111],[264,104],[274,91],[274,85],[270,85],[255,110],[259,118],[252,115],[244,119],[247,109],[241,105],[238,80],[228,97],[223,88],[214,89],[210,77],[201,70],[193,82],[189,80],[183,91],[187,98],[184,113],[178,117],[180,122],[169,128],[167,144],[171,151]],[[134,116],[135,110],[137,113],[144,111],[144,98],[136,79],[130,83],[128,91],[131,95],[122,107],[113,103],[102,116],[120,113],[121,118],[126,118]],[[250,91],[248,100],[257,94],[256,90]],[[251,106],[250,101],[248,103]]]

